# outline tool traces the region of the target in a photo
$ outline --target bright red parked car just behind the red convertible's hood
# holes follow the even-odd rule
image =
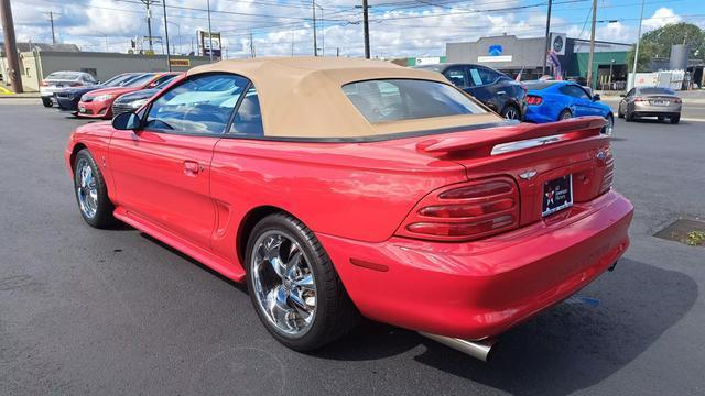
[[[138,91],[140,89],[154,88],[158,85],[174,78],[181,73],[144,73],[120,87],[110,87],[91,90],[84,94],[78,101],[78,110],[76,117],[80,118],[98,118],[109,120],[112,118],[112,102],[121,95]]]

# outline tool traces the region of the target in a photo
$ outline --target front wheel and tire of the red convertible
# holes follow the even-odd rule
[[[90,227],[104,229],[115,223],[115,207],[108,197],[105,178],[88,148],[76,154],[74,191],[80,216]]]

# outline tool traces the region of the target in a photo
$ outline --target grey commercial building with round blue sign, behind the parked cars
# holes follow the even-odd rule
[[[494,67],[512,77],[522,72],[522,79],[535,79],[544,74],[545,38],[520,38],[514,35],[481,37],[475,42],[447,43],[446,62],[474,63]],[[551,47],[556,52],[562,76],[587,77],[589,41],[551,33]],[[623,89],[627,81],[627,54],[631,44],[595,42],[593,88]],[[550,74],[550,72],[546,72]]]

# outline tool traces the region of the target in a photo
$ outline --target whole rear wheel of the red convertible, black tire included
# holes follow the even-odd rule
[[[292,350],[316,350],[344,337],[359,321],[327,253],[292,216],[270,215],[254,226],[246,270],[257,315],[269,333]]]

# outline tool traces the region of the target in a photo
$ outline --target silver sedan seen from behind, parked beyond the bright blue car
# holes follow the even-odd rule
[[[621,97],[617,116],[627,121],[638,117],[657,117],[659,121],[668,118],[671,123],[681,121],[682,100],[670,88],[632,88]]]

